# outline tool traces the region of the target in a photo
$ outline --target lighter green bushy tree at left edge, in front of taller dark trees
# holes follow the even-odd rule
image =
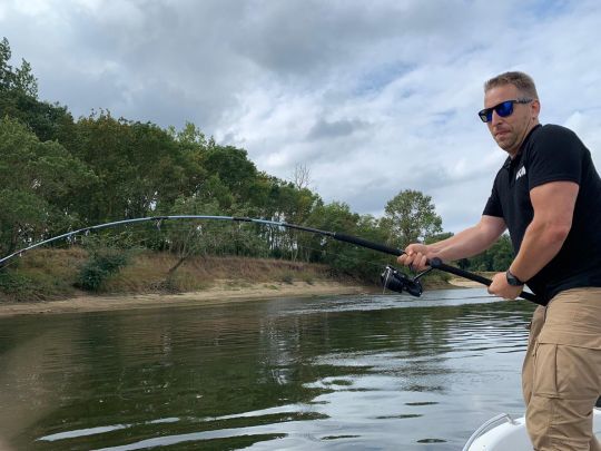
[[[0,119],[0,249],[77,226],[76,193],[95,180],[56,141],[40,143],[17,119]]]

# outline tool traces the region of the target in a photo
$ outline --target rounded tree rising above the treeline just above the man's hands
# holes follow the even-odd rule
[[[405,248],[442,232],[442,218],[436,214],[432,197],[405,189],[388,200],[381,226],[387,232],[388,244]]]

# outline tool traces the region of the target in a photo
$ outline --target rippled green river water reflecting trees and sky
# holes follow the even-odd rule
[[[2,318],[0,449],[457,450],[522,414],[532,310],[466,288]]]

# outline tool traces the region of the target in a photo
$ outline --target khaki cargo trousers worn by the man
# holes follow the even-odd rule
[[[592,409],[601,394],[601,288],[558,294],[532,316],[522,389],[536,451],[601,451]]]

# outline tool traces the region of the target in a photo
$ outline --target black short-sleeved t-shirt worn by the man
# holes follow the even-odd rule
[[[601,286],[601,179],[589,149],[568,128],[534,127],[518,156],[508,158],[496,174],[483,213],[505,220],[518,254],[534,215],[530,190],[550,182],[574,182],[580,188],[563,246],[528,281],[544,302],[564,290]]]

